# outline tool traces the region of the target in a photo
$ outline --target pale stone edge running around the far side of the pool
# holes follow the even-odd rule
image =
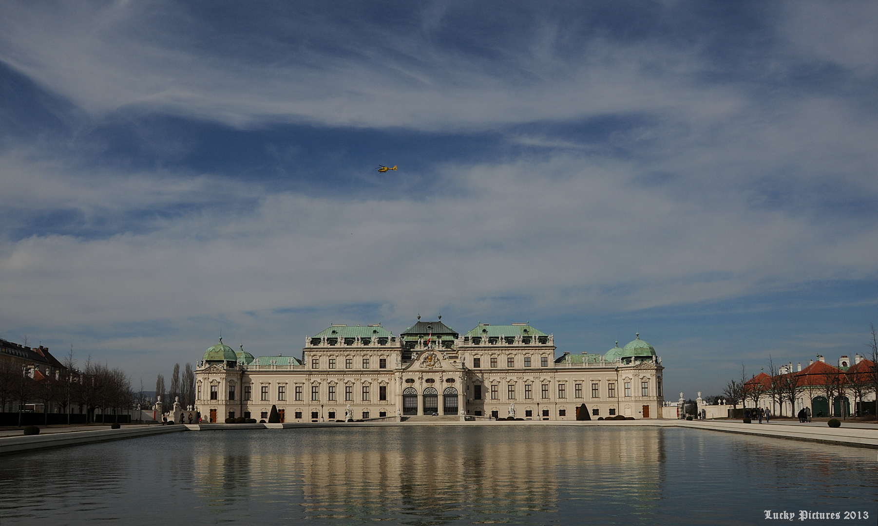
[[[171,426],[151,426],[147,428],[98,429],[94,431],[75,431],[70,433],[54,433],[34,436],[7,436],[0,438],[0,456],[24,453],[33,450],[47,450],[85,443],[125,440],[140,436],[164,435],[184,431],[219,431],[235,429],[309,429],[336,427],[388,427],[388,426],[634,426],[634,427],[667,427],[707,429],[723,433],[741,435],[772,436],[807,442],[832,443],[878,449],[878,429],[860,428],[814,428],[798,426],[760,426],[743,422],[722,421],[514,421],[514,422],[318,422],[318,423],[283,423],[283,424],[176,424]]]

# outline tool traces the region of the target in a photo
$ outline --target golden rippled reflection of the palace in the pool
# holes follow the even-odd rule
[[[446,519],[475,513],[558,509],[559,485],[601,493],[606,503],[658,498],[661,429],[543,426],[271,430],[247,450],[219,443],[198,459],[195,488],[216,505],[272,488],[302,501],[306,516],[383,515],[388,509]],[[351,441],[356,436],[356,443]],[[584,471],[583,471],[584,470]]]

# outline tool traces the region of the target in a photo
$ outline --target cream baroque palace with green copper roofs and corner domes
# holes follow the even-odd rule
[[[399,336],[380,323],[332,325],[306,336],[299,357],[253,357],[219,339],[196,371],[202,422],[244,417],[282,422],[457,415],[575,420],[661,418],[661,358],[637,338],[603,354],[564,352],[528,323],[479,323],[464,335],[418,321]]]

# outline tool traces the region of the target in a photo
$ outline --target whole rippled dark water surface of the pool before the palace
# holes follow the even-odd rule
[[[875,524],[876,458],[695,429],[203,431],[0,458],[0,525]]]

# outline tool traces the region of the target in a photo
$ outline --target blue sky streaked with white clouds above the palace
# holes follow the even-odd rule
[[[876,26],[874,3],[0,4],[0,337],[147,386],[220,327],[298,354],[417,313],[530,321],[559,353],[639,330],[687,396],[853,356]]]

